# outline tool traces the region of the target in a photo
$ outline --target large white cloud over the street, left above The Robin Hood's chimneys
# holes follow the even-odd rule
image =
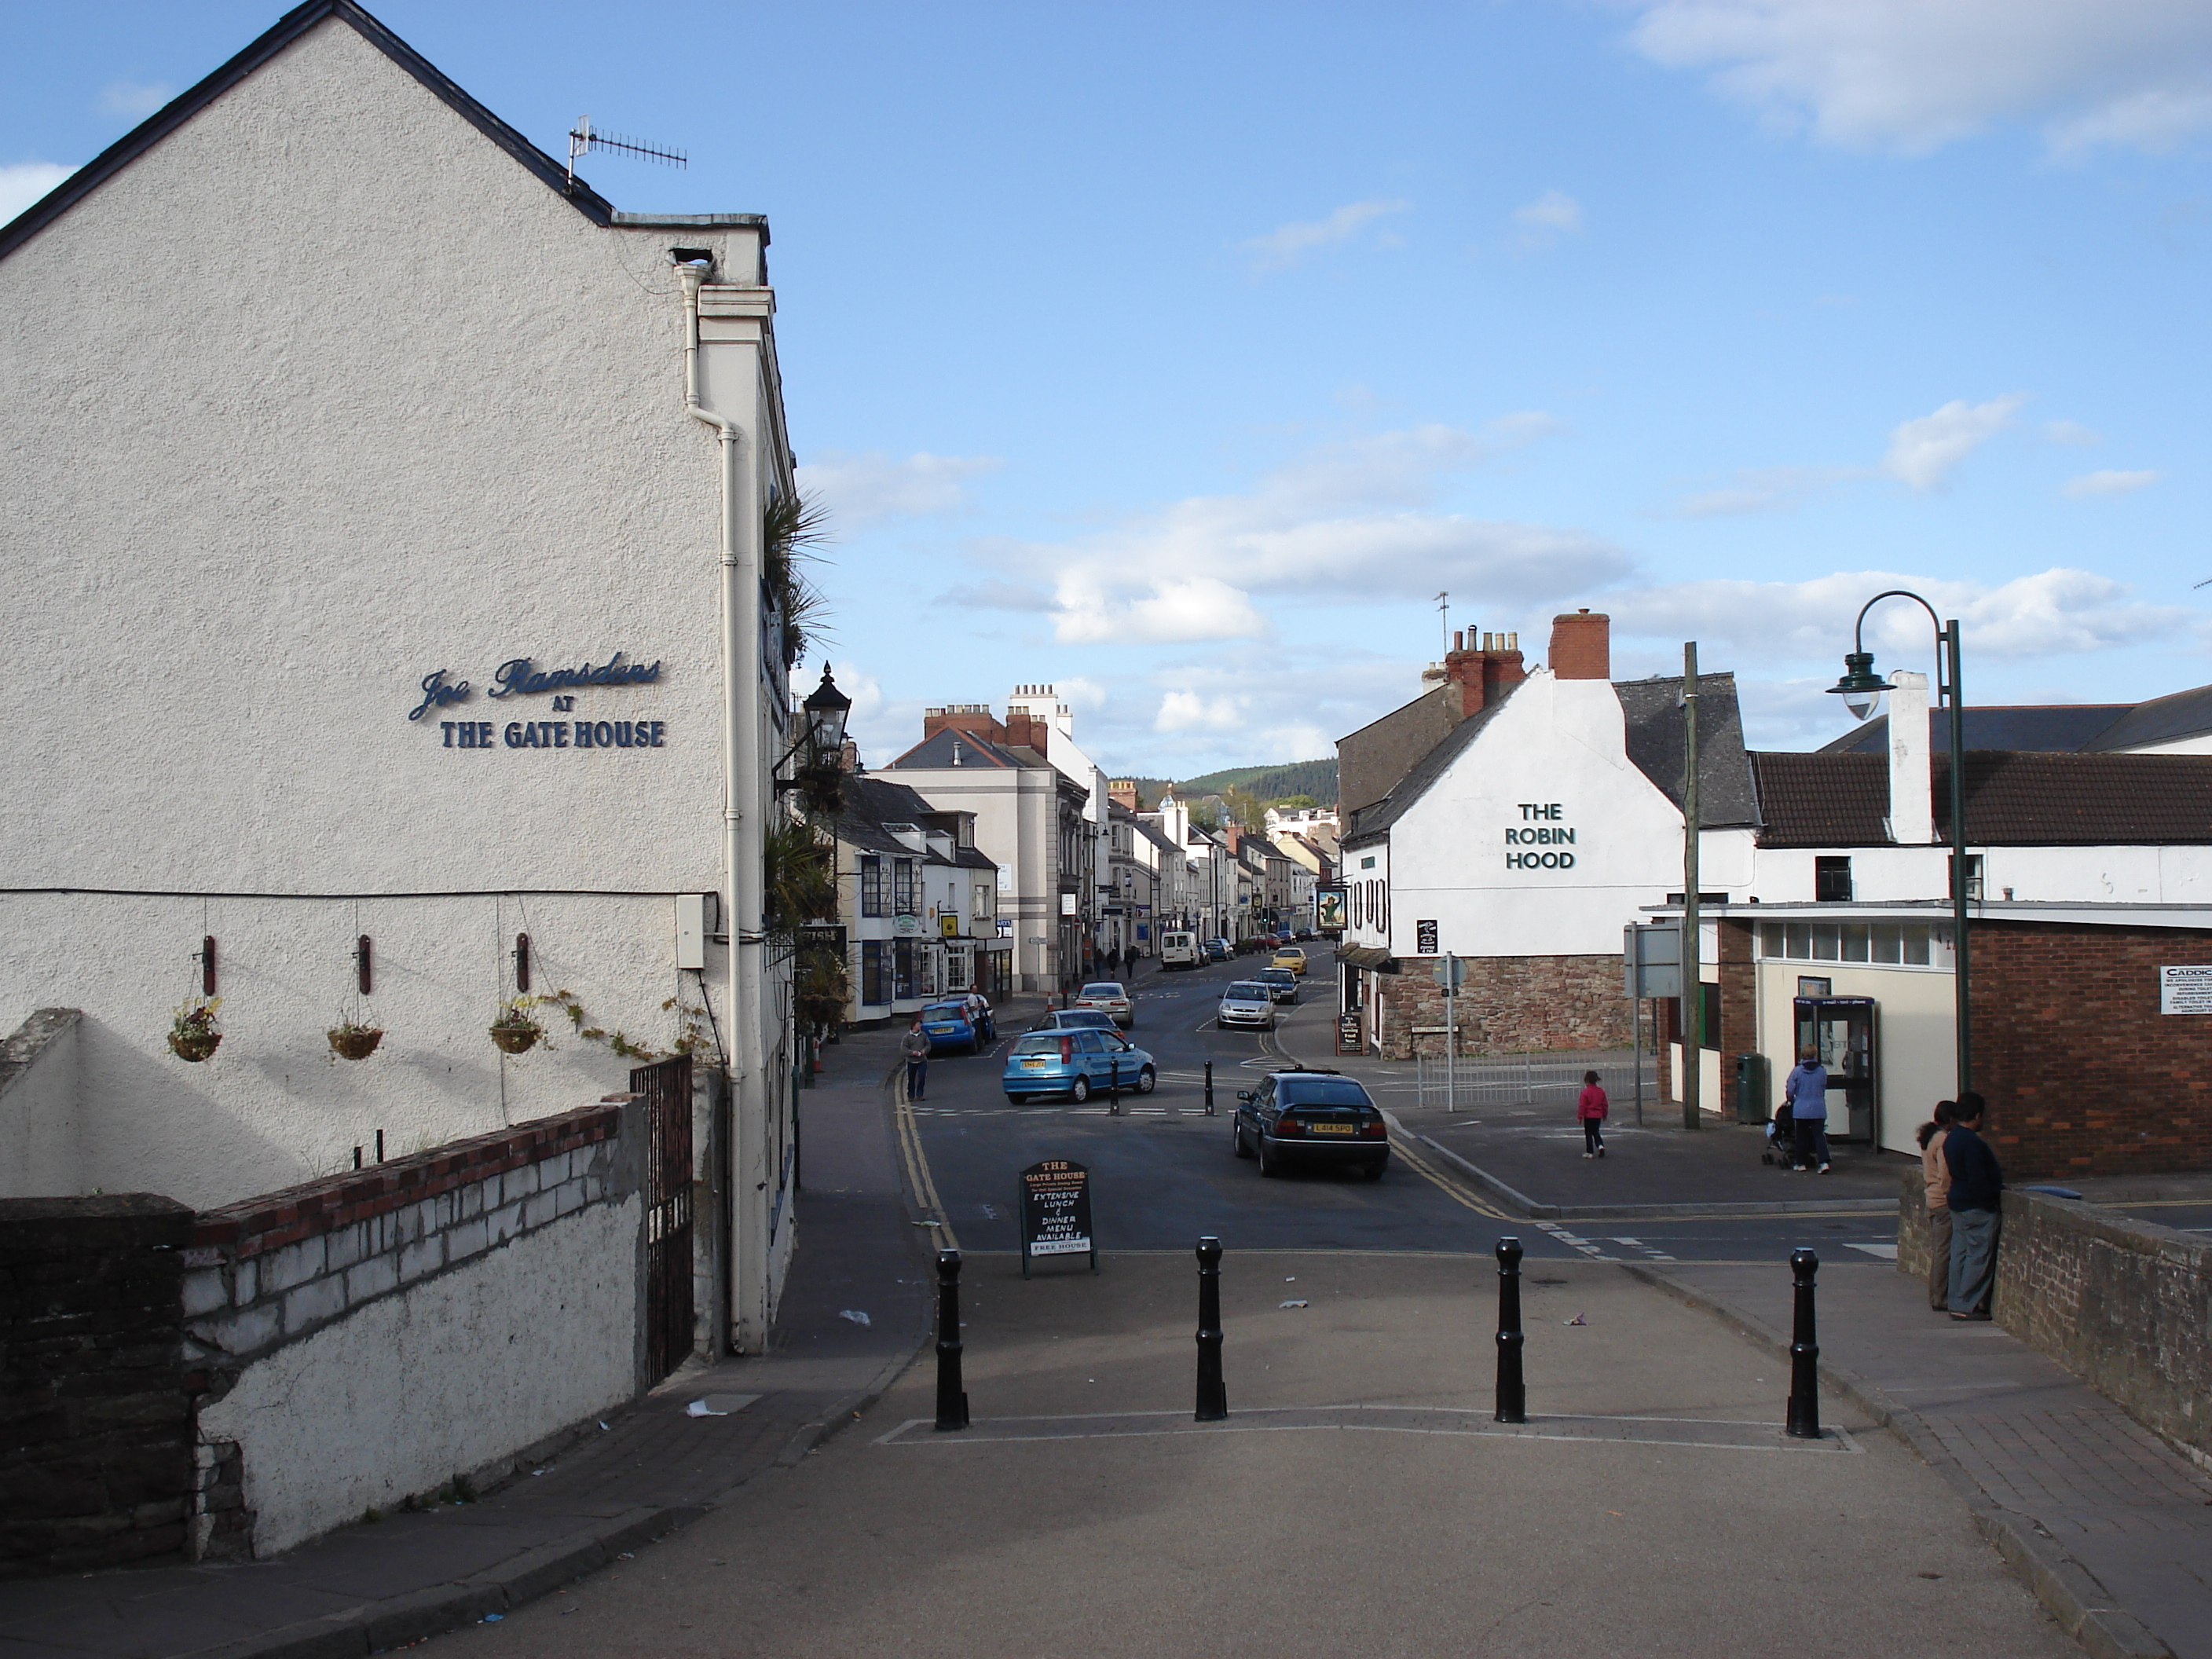
[[[984,557],[1053,573],[1062,644],[1261,639],[1256,595],[1307,602],[1557,599],[1615,582],[1626,553],[1575,529],[1438,513],[1440,478],[1555,431],[1517,414],[1482,431],[1416,427],[1332,445],[1248,493],[1192,495],[1062,544],[998,544]]]

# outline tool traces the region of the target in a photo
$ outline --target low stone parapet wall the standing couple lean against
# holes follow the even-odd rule
[[[1898,1272],[1927,1276],[1918,1168],[1898,1194]],[[2148,1429],[2212,1453],[2212,1243],[2095,1203],[2004,1194],[1997,1325]]]

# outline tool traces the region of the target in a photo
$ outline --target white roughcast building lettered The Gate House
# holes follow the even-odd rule
[[[347,0],[0,228],[0,684],[38,710],[0,750],[0,1006],[86,1015],[69,1115],[0,1126],[38,1148],[9,1192],[208,1208],[622,1091],[553,1009],[551,1046],[487,1035],[566,991],[726,1055],[703,1340],[765,1338],[759,845],[796,737],[765,248],[615,212]],[[341,1015],[374,1055],[334,1057]]]

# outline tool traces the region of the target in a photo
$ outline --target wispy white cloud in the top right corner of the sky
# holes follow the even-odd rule
[[[1630,44],[1785,131],[1927,153],[1997,122],[2055,150],[2212,128],[2203,0],[1628,0]]]

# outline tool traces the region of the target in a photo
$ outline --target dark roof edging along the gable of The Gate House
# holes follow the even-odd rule
[[[82,168],[71,173],[62,184],[42,195],[29,208],[24,208],[7,226],[0,226],[0,259],[7,259],[22,243],[31,241],[40,230],[51,226],[64,212],[69,212],[77,201],[88,197],[122,168],[131,166],[139,155],[150,150],[155,144],[166,139],[199,111],[212,104],[217,97],[228,93],[232,86],[243,82],[257,69],[268,64],[285,46],[294,44],[323,22],[343,22],[372,46],[376,46],[385,58],[405,69],[420,82],[438,102],[460,115],[469,126],[482,133],[491,144],[507,150],[524,170],[535,175],[546,188],[560,195],[571,208],[582,212],[595,226],[759,226],[761,241],[768,241],[768,219],[757,212],[712,212],[712,215],[644,215],[644,212],[615,212],[615,206],[593,190],[582,179],[568,181],[568,164],[560,161],[535,144],[531,144],[522,133],[511,128],[489,108],[478,104],[469,93],[460,88],[458,82],[449,80],[438,71],[422,53],[392,33],[383,22],[372,18],[354,0],[307,0],[307,4],[292,7],[283,18],[274,22],[259,40],[254,40],[246,51],[226,62],[221,69],[177,93],[168,104],[157,108],[144,122],[133,126],[108,148],[86,161]]]

